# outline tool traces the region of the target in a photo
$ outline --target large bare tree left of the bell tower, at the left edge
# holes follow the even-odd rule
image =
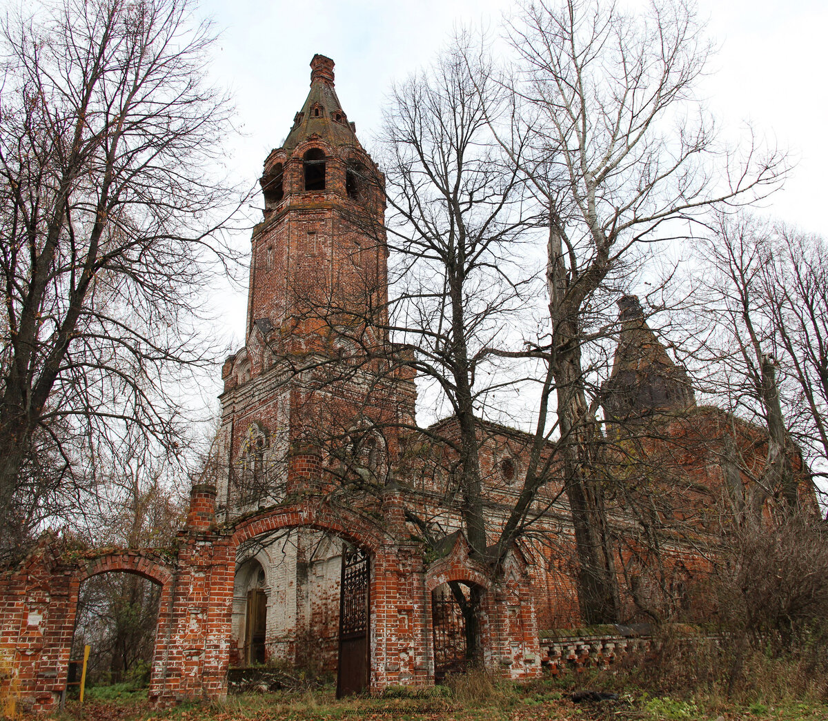
[[[5,551],[89,478],[101,439],[137,424],[181,443],[172,381],[206,359],[199,289],[229,259],[231,194],[230,108],[188,0],[56,2],[0,36]]]

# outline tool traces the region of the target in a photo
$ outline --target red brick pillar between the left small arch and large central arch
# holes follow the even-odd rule
[[[150,698],[223,699],[236,549],[219,531],[190,528],[178,538],[178,570],[161,598]]]

